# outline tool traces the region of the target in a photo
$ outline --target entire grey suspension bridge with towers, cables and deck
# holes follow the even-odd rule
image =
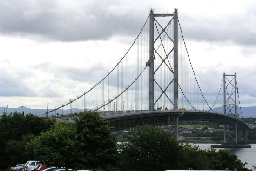
[[[47,108],[41,116],[61,118],[83,110],[101,112],[115,130],[145,123],[172,124],[176,139],[179,120],[204,120],[224,125],[224,142],[226,125],[235,128],[234,138],[231,136],[235,143],[246,141],[248,127],[237,113],[236,73],[223,74],[221,87],[214,87],[219,92],[213,102],[207,101],[195,75],[178,10],[155,14],[150,9],[134,42],[99,82],[54,109]],[[214,108],[219,106],[223,110],[216,112]]]

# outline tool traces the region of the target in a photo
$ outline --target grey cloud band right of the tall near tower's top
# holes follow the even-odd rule
[[[245,46],[256,45],[255,9],[245,9],[244,15],[181,14],[180,18],[185,38],[197,41],[229,41]]]

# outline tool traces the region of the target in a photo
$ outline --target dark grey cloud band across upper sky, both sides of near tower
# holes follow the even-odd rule
[[[57,41],[104,40],[113,35],[135,37],[148,17],[148,8],[116,11],[124,5],[120,0],[74,0],[69,3],[58,0],[2,1],[0,34]],[[255,45],[255,8],[256,5],[252,4],[244,9],[243,15],[179,13],[179,20],[185,39]]]

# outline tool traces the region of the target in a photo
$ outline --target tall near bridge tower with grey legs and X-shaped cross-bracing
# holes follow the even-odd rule
[[[168,24],[166,26],[161,26],[157,20],[155,20],[155,17],[173,17],[171,20],[168,21]],[[159,24],[162,28],[162,32],[159,33],[159,36],[157,38],[154,38],[154,22]],[[168,30],[168,25],[173,22],[173,37],[168,35],[168,38],[171,39],[173,42],[172,49],[165,53],[166,56],[162,58],[162,64],[165,63],[165,60],[168,58],[170,53],[173,53],[173,67],[170,66],[169,70],[173,73],[173,79],[171,80],[171,83],[173,83],[173,99],[168,100],[173,104],[173,109],[178,110],[178,11],[177,9],[174,9],[174,13],[172,14],[154,14],[153,9],[149,10],[149,60],[146,63],[147,66],[149,66],[149,110],[154,110],[154,105],[157,103],[157,101],[161,98],[161,96],[166,95],[166,90],[168,89],[168,85],[165,88],[160,88],[162,90],[162,94],[159,97],[156,97],[156,101],[154,101],[154,84],[159,86],[157,83],[157,80],[154,78],[155,70],[154,70],[154,60],[155,60],[155,53],[157,53],[157,48],[154,48],[154,44],[157,41],[157,39],[161,39],[162,33],[167,33],[166,30]],[[162,44],[163,46],[163,44]],[[162,65],[161,64],[161,65]],[[173,68],[173,70],[172,70]],[[156,69],[157,70],[157,69]],[[162,76],[164,77],[164,76]],[[159,86],[160,87],[160,86]],[[178,140],[178,122],[179,122],[180,115],[175,116],[174,120],[174,135],[176,140]],[[170,122],[170,120],[168,121]]]

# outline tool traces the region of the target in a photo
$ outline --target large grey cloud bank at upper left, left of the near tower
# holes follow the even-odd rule
[[[58,41],[108,39],[117,33],[135,34],[146,20],[145,16],[137,14],[116,15],[109,7],[111,2],[80,2],[80,7],[70,6],[67,9],[61,9],[61,3],[50,0],[2,2],[0,33]],[[134,26],[138,29],[135,30]]]

